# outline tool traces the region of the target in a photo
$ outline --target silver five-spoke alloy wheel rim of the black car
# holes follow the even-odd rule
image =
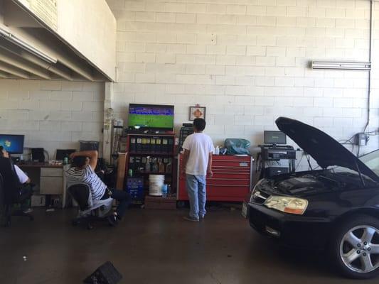
[[[379,267],[379,230],[365,225],[350,229],[341,240],[340,257],[351,271],[374,271]]]

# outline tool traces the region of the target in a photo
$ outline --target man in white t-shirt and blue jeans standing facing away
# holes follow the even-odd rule
[[[198,222],[205,216],[206,176],[212,178],[212,139],[205,133],[205,120],[193,121],[194,133],[187,136],[183,143],[183,168],[186,173],[186,188],[190,202],[190,212],[184,219]]]

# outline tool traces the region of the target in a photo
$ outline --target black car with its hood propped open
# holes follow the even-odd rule
[[[282,244],[326,249],[348,277],[374,277],[379,273],[379,150],[357,158],[319,129],[284,117],[275,122],[319,169],[260,180],[242,215]]]

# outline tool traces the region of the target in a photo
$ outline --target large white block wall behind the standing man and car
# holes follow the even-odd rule
[[[278,116],[337,139],[363,131],[368,72],[311,70],[309,62],[367,61],[370,1],[107,2],[117,18],[114,108],[122,118],[130,102],[174,104],[178,128],[188,107],[201,104],[206,132],[219,145],[228,137],[262,143]],[[378,40],[378,30],[374,35]],[[377,88],[378,71],[373,75]],[[372,96],[370,130],[379,125],[377,89]],[[361,151],[370,148],[378,148],[375,137]]]

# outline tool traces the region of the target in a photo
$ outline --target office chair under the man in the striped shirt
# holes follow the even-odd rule
[[[112,198],[96,200],[94,203],[90,187],[84,184],[71,185],[68,192],[79,206],[78,216],[72,220],[73,226],[85,224],[87,229],[93,229],[93,222],[106,220],[105,216],[112,209]]]

